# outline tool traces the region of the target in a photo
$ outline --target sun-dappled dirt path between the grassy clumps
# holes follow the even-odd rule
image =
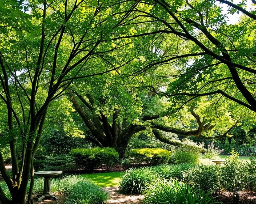
[[[117,192],[118,186],[114,187],[106,187],[103,188],[104,190],[110,193],[110,200],[109,203],[113,204],[139,204],[142,203],[143,196],[129,196],[129,195],[122,195]]]

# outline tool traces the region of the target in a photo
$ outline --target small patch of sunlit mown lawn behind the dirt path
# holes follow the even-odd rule
[[[122,173],[123,172],[90,173],[82,174],[81,176],[91,180],[99,187],[111,187],[118,186]]]

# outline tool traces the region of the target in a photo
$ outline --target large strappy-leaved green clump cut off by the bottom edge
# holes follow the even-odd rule
[[[178,179],[159,180],[149,184],[145,190],[144,203],[168,203],[168,204],[216,204],[210,192],[195,188]]]

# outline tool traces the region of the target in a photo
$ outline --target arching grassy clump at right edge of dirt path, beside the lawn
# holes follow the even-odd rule
[[[128,169],[121,176],[119,190],[121,193],[142,194],[148,182],[157,179],[158,175],[149,170],[149,168]]]

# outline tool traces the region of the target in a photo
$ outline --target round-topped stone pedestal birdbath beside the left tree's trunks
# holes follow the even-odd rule
[[[41,201],[46,198],[53,198],[54,200],[58,200],[55,196],[55,193],[51,192],[51,177],[61,174],[62,171],[38,171],[35,172],[35,175],[42,176],[44,178],[43,183],[43,193],[38,194],[38,201]]]

